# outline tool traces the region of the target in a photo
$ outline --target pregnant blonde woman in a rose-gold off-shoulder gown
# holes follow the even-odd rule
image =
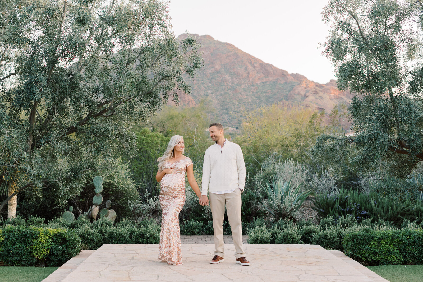
[[[162,207],[159,260],[175,265],[183,264],[179,212],[185,203],[185,172],[192,190],[198,198],[201,197],[194,178],[192,161],[184,156],[184,148],[184,138],[174,135],[170,138],[165,154],[157,159],[159,170],[156,180],[160,182],[159,200]]]

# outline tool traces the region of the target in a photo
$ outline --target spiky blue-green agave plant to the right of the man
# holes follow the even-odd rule
[[[279,219],[293,218],[310,195],[311,190],[299,191],[301,185],[295,187],[290,180],[283,183],[280,178],[271,178],[270,181],[266,180],[264,186],[261,186],[267,196],[267,200],[263,203],[264,208],[275,218],[275,222]]]

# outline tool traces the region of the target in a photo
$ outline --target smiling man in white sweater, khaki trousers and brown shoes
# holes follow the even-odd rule
[[[214,246],[216,248],[212,264],[223,262],[223,217],[225,205],[231,225],[233,244],[235,245],[236,263],[249,266],[242,248],[241,230],[241,193],[245,186],[245,164],[241,147],[223,137],[223,126],[211,123],[209,126],[211,145],[204,154],[203,179],[200,204],[208,205],[213,216]]]

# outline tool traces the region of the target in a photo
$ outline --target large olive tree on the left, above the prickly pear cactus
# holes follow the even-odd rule
[[[0,14],[0,209],[42,186],[65,205],[203,66],[160,0],[7,0]]]

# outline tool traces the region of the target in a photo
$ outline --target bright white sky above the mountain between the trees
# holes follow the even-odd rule
[[[176,36],[208,34],[266,63],[319,83],[335,79],[321,55],[329,26],[321,21],[327,0],[170,0]]]

